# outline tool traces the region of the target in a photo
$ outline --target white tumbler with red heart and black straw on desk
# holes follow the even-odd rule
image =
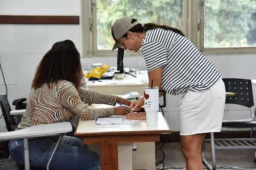
[[[159,111],[158,87],[144,87],[144,109],[147,126],[157,126]]]

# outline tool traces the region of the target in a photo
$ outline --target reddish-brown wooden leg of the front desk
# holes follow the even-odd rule
[[[118,169],[117,143],[101,143],[101,169]]]

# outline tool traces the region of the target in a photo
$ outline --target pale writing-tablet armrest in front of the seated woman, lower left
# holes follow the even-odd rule
[[[70,122],[36,125],[25,129],[20,129],[12,132],[0,133],[1,140],[25,139],[43,136],[60,135],[72,131]]]

